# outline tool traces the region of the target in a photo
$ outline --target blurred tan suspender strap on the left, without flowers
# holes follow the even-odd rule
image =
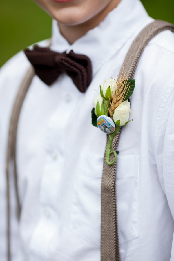
[[[19,201],[19,193],[17,186],[17,168],[16,168],[16,138],[17,138],[17,125],[19,121],[19,115],[23,101],[25,99],[28,88],[31,84],[32,78],[34,76],[34,69],[30,67],[22,84],[19,88],[16,100],[14,102],[12,115],[10,119],[10,127],[8,134],[8,147],[6,156],[6,186],[7,186],[7,244],[8,244],[8,261],[11,260],[10,256],[10,171],[9,167],[11,162],[14,162],[14,184],[16,191],[16,201],[17,201],[17,211],[18,218],[20,217],[21,206]]]

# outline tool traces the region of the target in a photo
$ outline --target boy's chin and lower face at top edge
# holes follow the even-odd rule
[[[76,26],[87,21],[94,26],[100,22],[108,12],[117,6],[121,0],[34,0],[57,22]],[[64,3],[60,2],[64,1]],[[67,2],[70,1],[70,2]]]

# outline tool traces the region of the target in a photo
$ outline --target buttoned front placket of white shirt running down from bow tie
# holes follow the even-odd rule
[[[64,182],[63,172],[65,159],[65,139],[68,119],[72,108],[77,103],[72,86],[72,80],[62,75],[57,81],[62,99],[57,109],[52,112],[48,122],[46,137],[46,159],[44,173],[40,183],[40,217],[30,242],[31,260],[38,255],[49,258],[49,243],[61,222],[59,202],[63,195],[61,186]],[[66,87],[66,91],[63,88]],[[62,113],[62,108],[64,113]]]

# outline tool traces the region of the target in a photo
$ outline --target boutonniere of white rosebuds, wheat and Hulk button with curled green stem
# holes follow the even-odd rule
[[[100,95],[94,100],[92,109],[92,124],[99,127],[102,131],[109,134],[108,145],[106,148],[106,162],[108,165],[113,164],[117,159],[116,151],[111,151],[111,145],[114,136],[119,133],[122,126],[129,121],[130,96],[135,88],[135,80],[128,79],[125,73],[115,79],[106,79],[100,86]],[[115,158],[110,162],[110,155],[114,153]]]

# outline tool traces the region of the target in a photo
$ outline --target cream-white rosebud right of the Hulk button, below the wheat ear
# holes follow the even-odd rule
[[[130,102],[122,102],[116,109],[113,114],[113,121],[116,123],[120,120],[120,126],[123,126],[129,119],[129,113],[131,113]]]

